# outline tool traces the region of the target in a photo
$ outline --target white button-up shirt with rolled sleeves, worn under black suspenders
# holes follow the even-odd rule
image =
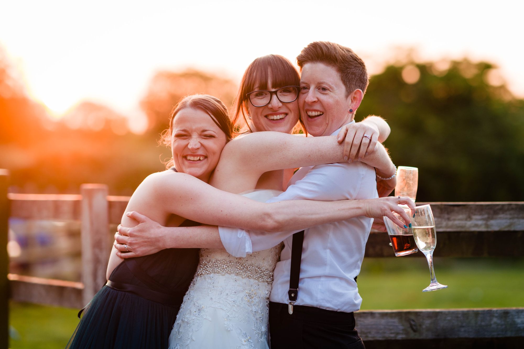
[[[377,198],[375,177],[375,169],[359,161],[304,167],[293,175],[285,192],[267,202]],[[360,309],[362,298],[354,278],[361,269],[371,225],[372,219],[361,216],[305,230],[295,304],[343,312]],[[237,257],[285,243],[269,299],[287,303],[292,234],[298,231],[266,233],[230,227],[219,231],[227,252]]]

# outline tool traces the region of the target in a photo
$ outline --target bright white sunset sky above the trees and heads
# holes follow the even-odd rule
[[[420,60],[487,60],[524,97],[524,5],[482,1],[11,1],[0,45],[30,95],[59,117],[82,100],[142,118],[155,71],[194,67],[238,81],[256,57],[295,61],[309,42],[351,47],[370,72]]]

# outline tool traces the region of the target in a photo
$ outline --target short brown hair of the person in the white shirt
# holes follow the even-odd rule
[[[356,89],[366,93],[369,78],[364,61],[352,49],[329,41],[315,41],[297,56],[300,69],[306,63],[324,63],[336,69],[346,88],[347,96]]]

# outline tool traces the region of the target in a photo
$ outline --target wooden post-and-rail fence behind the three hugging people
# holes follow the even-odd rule
[[[17,301],[72,308],[83,307],[93,297],[106,281],[114,233],[109,225],[120,223],[128,200],[108,196],[102,184],[83,184],[81,195],[7,194],[7,174],[0,170],[0,212],[4,212],[0,215],[0,246],[7,243],[8,217],[80,220],[83,265],[82,282],[6,275],[8,258],[2,249],[0,314],[5,311],[6,315],[0,315],[0,338],[7,331],[8,291]],[[524,256],[524,202],[439,202],[431,207],[439,232],[435,256]],[[391,256],[387,234],[370,234],[366,257]],[[392,344],[387,341],[441,338],[524,339],[524,308],[360,311],[356,318],[365,341],[388,346]],[[3,347],[7,343],[0,342]]]

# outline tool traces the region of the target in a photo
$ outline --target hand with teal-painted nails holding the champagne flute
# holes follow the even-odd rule
[[[368,218],[380,218],[381,217],[388,217],[391,222],[397,224],[401,228],[407,228],[408,226],[411,226],[411,219],[409,215],[404,211],[400,205],[408,205],[409,208],[414,208],[415,204],[413,201],[408,197],[386,197],[386,198],[378,198],[378,199],[368,199],[363,200],[364,201],[364,211],[365,216]],[[401,219],[404,222],[401,222],[398,217],[393,214],[397,213],[400,215]]]

